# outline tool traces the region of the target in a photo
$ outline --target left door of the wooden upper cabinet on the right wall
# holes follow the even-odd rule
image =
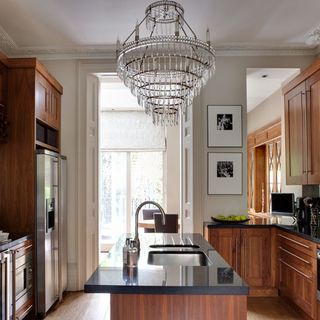
[[[307,184],[305,82],[285,95],[287,184]]]

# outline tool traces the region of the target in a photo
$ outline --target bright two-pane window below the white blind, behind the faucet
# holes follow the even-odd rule
[[[100,151],[100,232],[103,244],[134,231],[145,200],[163,203],[162,151]]]

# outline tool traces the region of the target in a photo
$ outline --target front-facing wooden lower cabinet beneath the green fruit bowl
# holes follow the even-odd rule
[[[250,295],[277,295],[270,228],[207,228],[208,242],[249,284]]]

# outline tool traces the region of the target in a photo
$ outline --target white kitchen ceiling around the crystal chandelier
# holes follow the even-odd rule
[[[9,56],[114,55],[142,20],[149,0],[0,0],[0,49]],[[219,51],[314,50],[306,34],[320,24],[319,0],[183,0],[199,38],[207,27]],[[240,5],[241,4],[241,5]]]

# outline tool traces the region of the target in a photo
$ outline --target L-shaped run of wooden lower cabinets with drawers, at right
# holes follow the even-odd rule
[[[304,318],[320,320],[314,242],[275,227],[213,227],[205,237],[249,284],[251,296],[279,293]]]

